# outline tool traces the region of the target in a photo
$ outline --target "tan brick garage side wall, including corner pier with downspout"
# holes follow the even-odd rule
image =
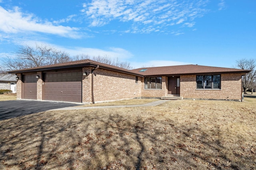
[[[89,71],[92,68],[84,68]],[[83,79],[83,102],[92,102],[91,80],[92,74],[87,76],[88,79]],[[135,83],[133,75],[113,72],[109,70],[96,69],[94,70],[94,102],[114,101],[141,96],[141,78],[138,77],[138,83]],[[87,100],[90,99],[90,100]]]

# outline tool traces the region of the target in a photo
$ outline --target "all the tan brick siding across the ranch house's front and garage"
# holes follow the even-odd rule
[[[92,73],[94,67],[84,67],[87,75],[82,77],[82,102],[92,103]],[[37,80],[37,100],[43,98],[42,72],[36,72],[40,78]],[[16,84],[17,99],[22,98],[21,74]],[[160,98],[168,93],[168,77],[162,76],[162,89],[144,89],[144,78],[114,72],[104,69],[94,70],[93,75],[94,102],[115,101],[130,98]],[[241,74],[221,74],[220,90],[197,90],[196,75],[180,76],[180,96],[192,99],[241,100]]]

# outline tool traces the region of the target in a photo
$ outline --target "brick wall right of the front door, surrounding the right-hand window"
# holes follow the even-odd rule
[[[180,76],[180,96],[194,99],[241,100],[241,74],[221,74],[220,90],[197,90],[196,75]]]

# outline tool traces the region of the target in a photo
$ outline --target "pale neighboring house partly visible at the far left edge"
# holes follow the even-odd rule
[[[13,74],[0,74],[0,89],[12,90],[16,93],[16,76]]]

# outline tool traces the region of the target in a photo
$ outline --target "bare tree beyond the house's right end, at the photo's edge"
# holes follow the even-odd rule
[[[244,94],[247,94],[246,91],[254,88],[256,84],[256,60],[241,59],[236,61],[236,66],[244,70],[251,70],[251,72],[242,76],[242,87],[244,88]]]

